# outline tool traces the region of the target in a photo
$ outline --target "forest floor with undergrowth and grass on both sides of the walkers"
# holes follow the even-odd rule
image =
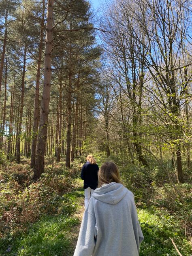
[[[26,159],[0,166],[0,256],[73,256],[84,212],[81,165],[47,162],[36,183]],[[192,256],[192,184],[149,186],[144,175],[136,166],[121,170],[145,237],[140,256]]]

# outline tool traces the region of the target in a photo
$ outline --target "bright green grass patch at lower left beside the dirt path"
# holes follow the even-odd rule
[[[65,215],[45,216],[31,225],[26,233],[20,233],[15,240],[10,240],[10,252],[7,250],[6,255],[68,255],[71,240],[69,232],[77,224],[77,218]]]

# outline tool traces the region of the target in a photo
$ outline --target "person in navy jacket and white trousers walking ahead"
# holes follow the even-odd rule
[[[81,179],[84,180],[83,188],[85,190],[85,208],[87,207],[94,190],[98,186],[98,170],[96,160],[92,155],[87,156],[87,162],[81,169]]]

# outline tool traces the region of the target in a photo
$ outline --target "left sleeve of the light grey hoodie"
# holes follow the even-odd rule
[[[89,208],[89,207],[88,207]],[[96,244],[95,238],[96,219],[87,210],[83,215],[79,237],[75,248],[74,256],[91,256]]]

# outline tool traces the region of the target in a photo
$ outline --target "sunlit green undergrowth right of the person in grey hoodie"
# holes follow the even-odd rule
[[[175,246],[183,256],[192,255],[192,184],[189,171],[186,182],[177,184],[175,170],[166,169],[174,183],[169,183],[161,166],[150,168],[128,164],[119,170],[125,186],[134,194],[139,221],[145,237],[140,256],[176,256]],[[175,243],[175,246],[173,245]]]

